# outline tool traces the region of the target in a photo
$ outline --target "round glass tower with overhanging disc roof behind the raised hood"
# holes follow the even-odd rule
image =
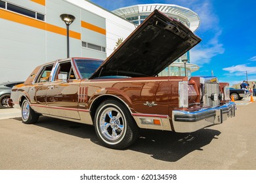
[[[189,8],[179,5],[169,4],[145,4],[133,5],[113,10],[115,14],[133,22],[135,25],[140,25],[154,10],[160,10],[167,16],[174,18],[186,25],[191,31],[196,31],[200,25],[200,18],[196,12]],[[182,59],[188,59],[186,63],[186,76],[190,77],[191,73],[198,71],[198,65],[190,63],[190,53],[186,52],[181,58],[173,62],[169,67],[165,68],[160,76],[185,76],[184,63]]]

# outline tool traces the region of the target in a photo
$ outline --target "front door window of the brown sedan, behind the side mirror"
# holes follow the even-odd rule
[[[72,69],[70,61],[60,63],[58,69],[56,70],[54,81],[58,80],[74,80],[76,79],[75,73]]]

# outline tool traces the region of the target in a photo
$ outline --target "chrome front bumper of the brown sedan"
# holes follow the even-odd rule
[[[213,108],[189,112],[173,110],[173,127],[176,132],[192,132],[209,125],[221,124],[228,117],[234,117],[236,104],[233,102]]]

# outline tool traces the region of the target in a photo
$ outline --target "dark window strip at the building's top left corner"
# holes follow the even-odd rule
[[[19,14],[24,14],[26,16],[36,18],[37,20],[45,21],[45,15],[44,14],[41,14],[39,12],[35,12],[33,10],[28,10],[27,8],[19,7],[17,5],[13,5],[13,4],[7,3],[5,1],[0,0],[0,8],[5,8],[5,9],[10,10],[12,12],[17,12]]]

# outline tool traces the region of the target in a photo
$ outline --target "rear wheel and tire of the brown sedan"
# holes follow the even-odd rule
[[[37,122],[39,114],[30,107],[27,99],[22,102],[22,123],[24,124],[34,124]]]

